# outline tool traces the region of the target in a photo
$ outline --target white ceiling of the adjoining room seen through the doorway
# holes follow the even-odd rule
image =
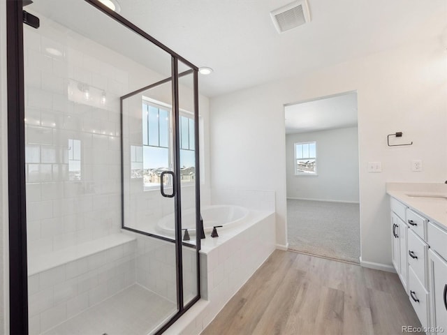
[[[357,94],[288,105],[285,114],[286,134],[357,126]]]

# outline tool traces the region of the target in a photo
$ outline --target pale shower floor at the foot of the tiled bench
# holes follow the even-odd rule
[[[44,334],[146,335],[176,311],[174,302],[132,285]]]

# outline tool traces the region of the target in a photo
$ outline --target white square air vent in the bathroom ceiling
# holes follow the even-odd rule
[[[310,22],[309,6],[307,6],[306,0],[293,1],[277,10],[272,10],[270,16],[278,33],[284,33],[284,31]]]

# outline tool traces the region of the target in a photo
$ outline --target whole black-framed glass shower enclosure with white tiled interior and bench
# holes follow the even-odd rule
[[[11,334],[163,332],[200,299],[198,68],[97,0],[8,0],[8,55]]]

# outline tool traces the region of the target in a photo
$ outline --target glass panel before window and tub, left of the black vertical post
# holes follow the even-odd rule
[[[123,227],[175,241],[172,82],[122,96]]]

